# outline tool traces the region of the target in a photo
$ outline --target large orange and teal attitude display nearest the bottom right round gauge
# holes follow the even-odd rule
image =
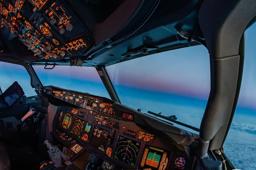
[[[140,167],[143,170],[165,170],[171,153],[152,146],[145,146]]]

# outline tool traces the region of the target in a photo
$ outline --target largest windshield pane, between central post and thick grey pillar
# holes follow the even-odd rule
[[[106,67],[122,104],[176,115],[200,127],[210,91],[209,53],[202,46],[166,51]]]

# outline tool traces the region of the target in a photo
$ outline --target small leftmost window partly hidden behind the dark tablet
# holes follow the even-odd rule
[[[30,76],[22,65],[0,62],[0,87],[6,91],[13,82],[17,81],[26,96],[35,96],[35,90],[30,85]]]

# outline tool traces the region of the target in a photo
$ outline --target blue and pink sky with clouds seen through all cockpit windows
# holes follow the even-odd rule
[[[224,151],[236,168],[256,170],[256,24],[245,32],[245,60],[239,101]],[[11,69],[10,69],[11,68]],[[93,67],[34,66],[43,85],[108,97]],[[209,54],[204,46],[166,51],[108,66],[122,104],[142,112],[176,115],[177,121],[200,127],[210,91]],[[17,81],[25,95],[36,95],[20,65],[0,62],[4,91]],[[177,125],[178,126],[178,125]],[[180,126],[179,126],[180,127]]]

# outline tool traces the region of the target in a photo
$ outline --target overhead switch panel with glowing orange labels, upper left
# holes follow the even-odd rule
[[[34,56],[58,60],[91,45],[87,28],[62,0],[1,0],[0,27],[9,28]]]

